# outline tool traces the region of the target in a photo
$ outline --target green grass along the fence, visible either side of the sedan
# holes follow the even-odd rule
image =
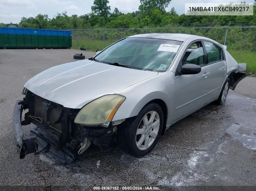
[[[92,39],[81,39],[81,40],[72,40],[72,48],[80,49],[84,48],[88,51],[96,52],[106,48],[107,46],[115,43],[117,40],[92,40]],[[256,52],[250,51],[237,51],[237,50],[228,50],[228,52],[234,57],[238,63],[246,63],[246,72],[252,75],[256,75]]]

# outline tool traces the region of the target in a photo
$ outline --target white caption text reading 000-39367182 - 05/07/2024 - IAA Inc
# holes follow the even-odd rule
[[[93,190],[160,190],[157,186],[94,186]]]

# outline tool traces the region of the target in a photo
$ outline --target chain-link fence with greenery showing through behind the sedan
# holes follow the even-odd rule
[[[76,29],[72,30],[72,48],[83,47],[95,52],[122,38],[145,33],[186,33],[211,38],[227,45],[234,59],[238,63],[247,63],[247,72],[256,74],[255,26]]]

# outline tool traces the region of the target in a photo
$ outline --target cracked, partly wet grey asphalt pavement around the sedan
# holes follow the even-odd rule
[[[82,52],[87,58],[95,54]],[[143,158],[113,145],[103,151],[91,146],[65,167],[44,153],[20,160],[12,111],[23,84],[51,66],[75,61],[74,53],[81,51],[0,50],[0,185],[256,185],[256,78],[250,77],[229,90],[223,106],[210,104],[172,125]]]

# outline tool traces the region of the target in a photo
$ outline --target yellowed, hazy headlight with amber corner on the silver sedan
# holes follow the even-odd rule
[[[117,94],[105,95],[88,103],[75,117],[75,123],[81,125],[108,126],[125,97]]]

